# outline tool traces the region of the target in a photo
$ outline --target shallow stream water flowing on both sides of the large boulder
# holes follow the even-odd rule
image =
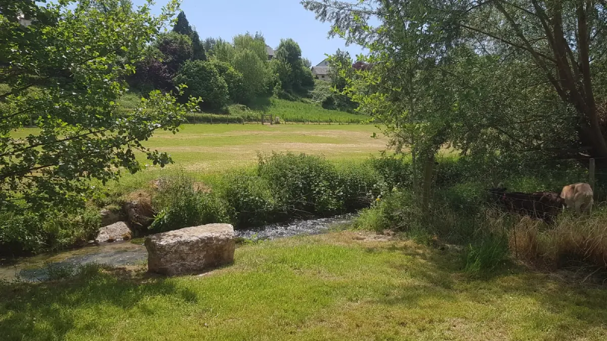
[[[351,215],[339,215],[331,218],[296,220],[290,223],[271,224],[262,228],[236,231],[236,236],[247,239],[274,239],[302,234],[319,234],[327,231],[331,226],[348,223],[351,219]],[[91,244],[84,248],[56,254],[13,259],[0,258],[0,280],[46,280],[52,271],[73,269],[75,266],[87,263],[136,266],[143,264],[147,258],[148,252],[143,244],[131,241]]]

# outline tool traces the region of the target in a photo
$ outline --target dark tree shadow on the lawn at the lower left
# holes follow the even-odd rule
[[[194,292],[166,279],[95,264],[81,267],[69,279],[0,283],[0,340],[64,339],[75,328],[75,309],[99,303],[129,309],[157,295],[196,303]],[[148,316],[154,313],[140,308]]]

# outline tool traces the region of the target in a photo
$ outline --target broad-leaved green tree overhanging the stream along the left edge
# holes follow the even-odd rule
[[[192,103],[152,92],[136,110],[122,110],[124,76],[177,9],[161,15],[150,2],[1,2],[0,210],[82,204],[90,179],[105,183],[141,169],[135,156],[169,163],[166,153],[141,144],[156,129],[177,132]],[[17,13],[32,18],[22,27]],[[23,131],[33,125],[35,131]],[[15,133],[15,132],[18,133]]]

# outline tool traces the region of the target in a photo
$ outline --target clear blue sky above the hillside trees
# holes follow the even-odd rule
[[[156,3],[160,7],[166,1]],[[302,56],[310,59],[312,65],[338,48],[350,52],[353,58],[362,52],[356,45],[345,47],[341,38],[328,39],[330,24],[314,19],[314,13],[305,10],[299,0],[183,0],[181,10],[201,39],[212,36],[231,40],[232,36],[247,31],[262,32],[266,44],[276,48],[280,38],[293,38],[299,43]]]

